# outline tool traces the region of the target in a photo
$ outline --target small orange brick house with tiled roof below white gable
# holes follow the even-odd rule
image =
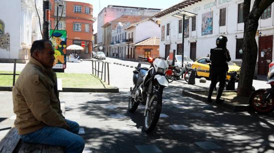
[[[135,60],[137,60],[138,56],[142,57],[159,57],[159,44],[160,39],[157,37],[152,37],[145,39],[134,45],[136,47]]]

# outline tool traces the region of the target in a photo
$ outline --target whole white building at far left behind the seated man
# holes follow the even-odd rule
[[[43,0],[36,6],[42,24]],[[28,59],[32,42],[42,39],[34,0],[1,0],[0,12],[0,59]]]

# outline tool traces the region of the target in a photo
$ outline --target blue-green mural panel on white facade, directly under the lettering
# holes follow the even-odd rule
[[[213,33],[213,11],[202,14],[202,36]]]

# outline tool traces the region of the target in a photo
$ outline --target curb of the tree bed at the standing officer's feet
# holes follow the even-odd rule
[[[194,93],[194,92],[191,92],[191,91],[183,91],[182,95],[194,98],[196,100],[200,100],[200,101],[205,102],[207,104],[210,104],[210,103],[207,102],[207,96],[204,96],[204,95],[200,95],[200,94],[197,94],[197,93]],[[245,104],[232,105],[232,104],[227,103],[227,102],[224,102],[224,103],[221,103],[221,104],[216,104],[216,103],[212,102],[211,104],[216,105],[216,106],[222,106],[224,108],[233,110],[234,112],[248,112],[248,111],[250,111],[249,105],[245,105]]]

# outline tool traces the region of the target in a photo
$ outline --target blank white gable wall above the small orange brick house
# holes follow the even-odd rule
[[[144,39],[151,37],[160,37],[160,27],[158,24],[152,22],[151,20],[147,20],[139,23],[136,26],[135,32],[135,43],[143,41]]]

